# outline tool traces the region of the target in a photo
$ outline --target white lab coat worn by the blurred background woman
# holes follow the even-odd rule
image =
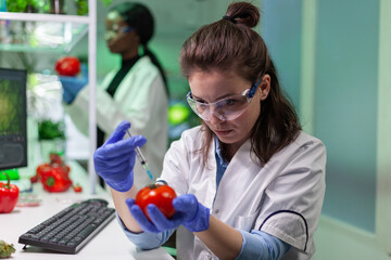
[[[147,144],[141,147],[154,179],[162,172],[167,150],[168,99],[163,79],[148,56],[140,57],[118,86],[114,99],[105,89],[118,68],[113,69],[97,88],[97,123],[109,138],[123,120],[131,122],[133,135],[142,134]],[[75,126],[88,135],[88,86],[66,107]],[[140,164],[135,165],[135,184],[139,187],[153,183]]]

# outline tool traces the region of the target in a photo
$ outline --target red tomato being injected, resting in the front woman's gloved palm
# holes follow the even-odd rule
[[[149,204],[156,205],[165,217],[171,218],[175,212],[173,207],[175,197],[176,193],[171,186],[152,184],[144,186],[137,193],[135,203],[148,218],[147,206]]]

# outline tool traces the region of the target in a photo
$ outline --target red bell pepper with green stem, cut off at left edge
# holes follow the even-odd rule
[[[10,177],[5,172],[3,174],[7,176],[7,184],[0,182],[0,213],[9,213],[16,206],[18,187],[10,183]]]

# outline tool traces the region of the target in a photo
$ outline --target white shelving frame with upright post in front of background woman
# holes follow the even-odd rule
[[[64,28],[71,25],[71,29],[64,29],[63,34],[60,35],[63,37],[62,42],[59,41],[56,50],[51,50],[51,47],[37,47],[36,39],[29,39],[26,41],[9,41],[8,31],[5,32],[0,27],[0,50],[3,51],[21,51],[21,52],[37,52],[37,51],[53,51],[53,52],[67,52],[73,46],[75,46],[88,31],[88,80],[89,80],[89,93],[90,102],[88,104],[89,113],[89,139],[97,140],[97,115],[96,115],[96,75],[97,75],[97,1],[88,0],[88,16],[78,16],[78,15],[65,15],[65,14],[39,14],[39,13],[10,13],[10,12],[0,12],[0,25],[7,27],[8,23],[13,23],[13,21],[23,21],[27,22],[25,24],[38,24],[38,23],[50,23],[51,28],[54,23],[63,23]],[[28,23],[34,22],[34,23]],[[79,27],[77,27],[77,24]],[[80,26],[81,25],[81,26]],[[83,26],[84,25],[84,26]],[[72,28],[76,26],[79,29],[73,30]],[[71,32],[66,32],[71,31]],[[31,32],[31,31],[29,31]],[[35,35],[36,37],[37,35]],[[28,38],[28,37],[27,37]],[[47,37],[50,38],[50,37]],[[5,39],[5,40],[4,40]],[[29,42],[24,43],[24,42]],[[33,43],[31,43],[33,42]],[[90,143],[90,155],[88,164],[88,173],[91,185],[91,194],[96,194],[96,172],[93,168],[93,152],[96,151],[96,142]]]

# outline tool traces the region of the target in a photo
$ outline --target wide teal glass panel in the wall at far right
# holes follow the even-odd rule
[[[316,31],[315,132],[328,148],[324,212],[374,233],[379,1],[318,0]]]

